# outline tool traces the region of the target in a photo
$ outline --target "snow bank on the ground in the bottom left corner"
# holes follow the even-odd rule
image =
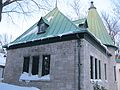
[[[40,89],[35,87],[21,87],[21,86],[6,84],[6,83],[0,83],[0,90],[40,90]]]

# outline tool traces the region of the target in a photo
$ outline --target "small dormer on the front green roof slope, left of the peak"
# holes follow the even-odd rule
[[[44,17],[41,17],[37,26],[38,26],[37,34],[41,34],[41,33],[46,32],[46,29],[49,27],[49,24],[48,24],[48,21]]]

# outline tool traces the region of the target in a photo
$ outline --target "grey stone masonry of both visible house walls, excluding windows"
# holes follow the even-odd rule
[[[101,47],[93,45],[85,39],[81,39],[80,44],[81,90],[93,90],[93,83],[96,81],[107,90],[117,90],[113,73],[115,63],[112,59],[114,57],[109,57],[100,50]],[[21,86],[38,87],[40,90],[78,90],[78,50],[77,40],[8,50],[4,82]],[[42,63],[42,55],[46,54],[51,56],[50,80],[20,81],[19,78],[23,70],[23,57],[39,55],[39,63]],[[90,78],[90,56],[93,56],[93,59],[96,58],[101,61],[101,79]],[[107,80],[105,80],[104,64],[107,67]],[[39,76],[41,76],[42,71],[42,64],[40,65]],[[99,76],[99,73],[97,74]]]

